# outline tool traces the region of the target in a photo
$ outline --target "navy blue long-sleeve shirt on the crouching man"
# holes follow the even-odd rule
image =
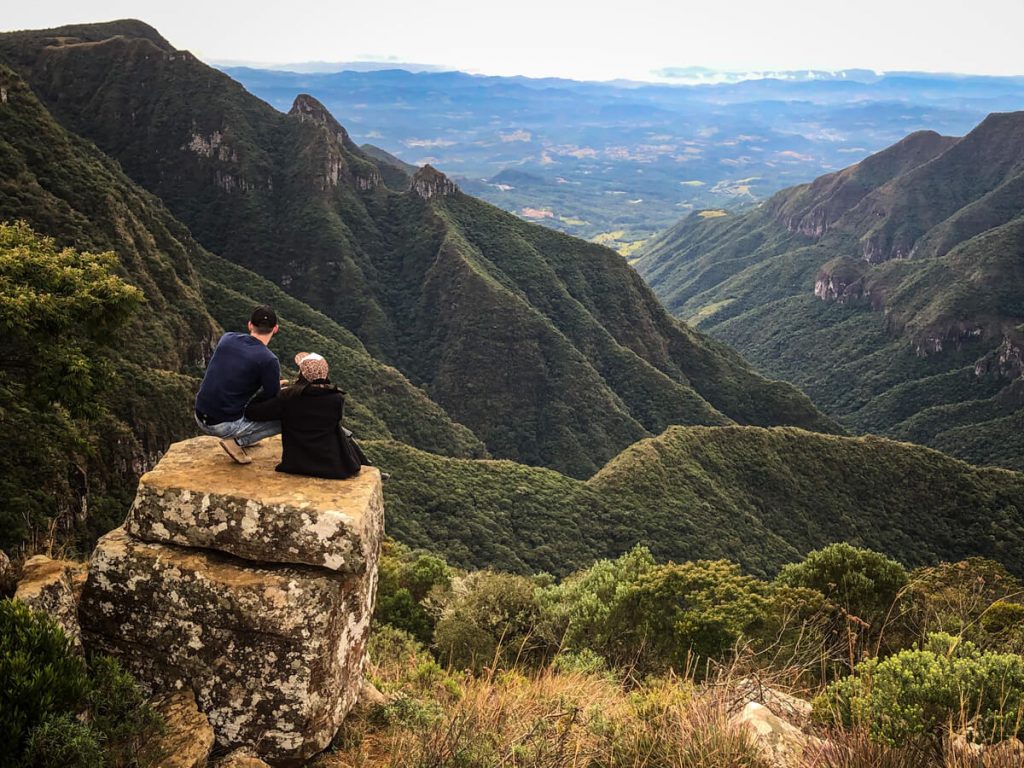
[[[205,414],[210,423],[234,421],[242,418],[246,403],[261,389],[261,397],[273,397],[281,389],[278,356],[249,334],[226,333],[207,366],[196,395],[196,411]]]

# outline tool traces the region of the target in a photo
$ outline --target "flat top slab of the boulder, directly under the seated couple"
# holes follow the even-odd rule
[[[247,449],[239,465],[216,437],[171,445],[138,483],[128,531],[147,542],[219,550],[258,562],[361,572],[380,545],[380,472],[325,480],[275,472],[281,438]]]

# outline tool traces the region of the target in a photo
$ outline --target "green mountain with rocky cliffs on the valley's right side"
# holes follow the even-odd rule
[[[1024,113],[914,133],[636,263],[848,426],[1024,469]]]

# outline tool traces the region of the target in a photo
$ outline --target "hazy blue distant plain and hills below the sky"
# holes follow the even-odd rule
[[[357,142],[627,256],[689,210],[751,205],[913,131],[958,135],[991,112],[1024,109],[1024,78],[863,70],[664,73],[698,85],[225,71],[282,112],[309,93]]]

